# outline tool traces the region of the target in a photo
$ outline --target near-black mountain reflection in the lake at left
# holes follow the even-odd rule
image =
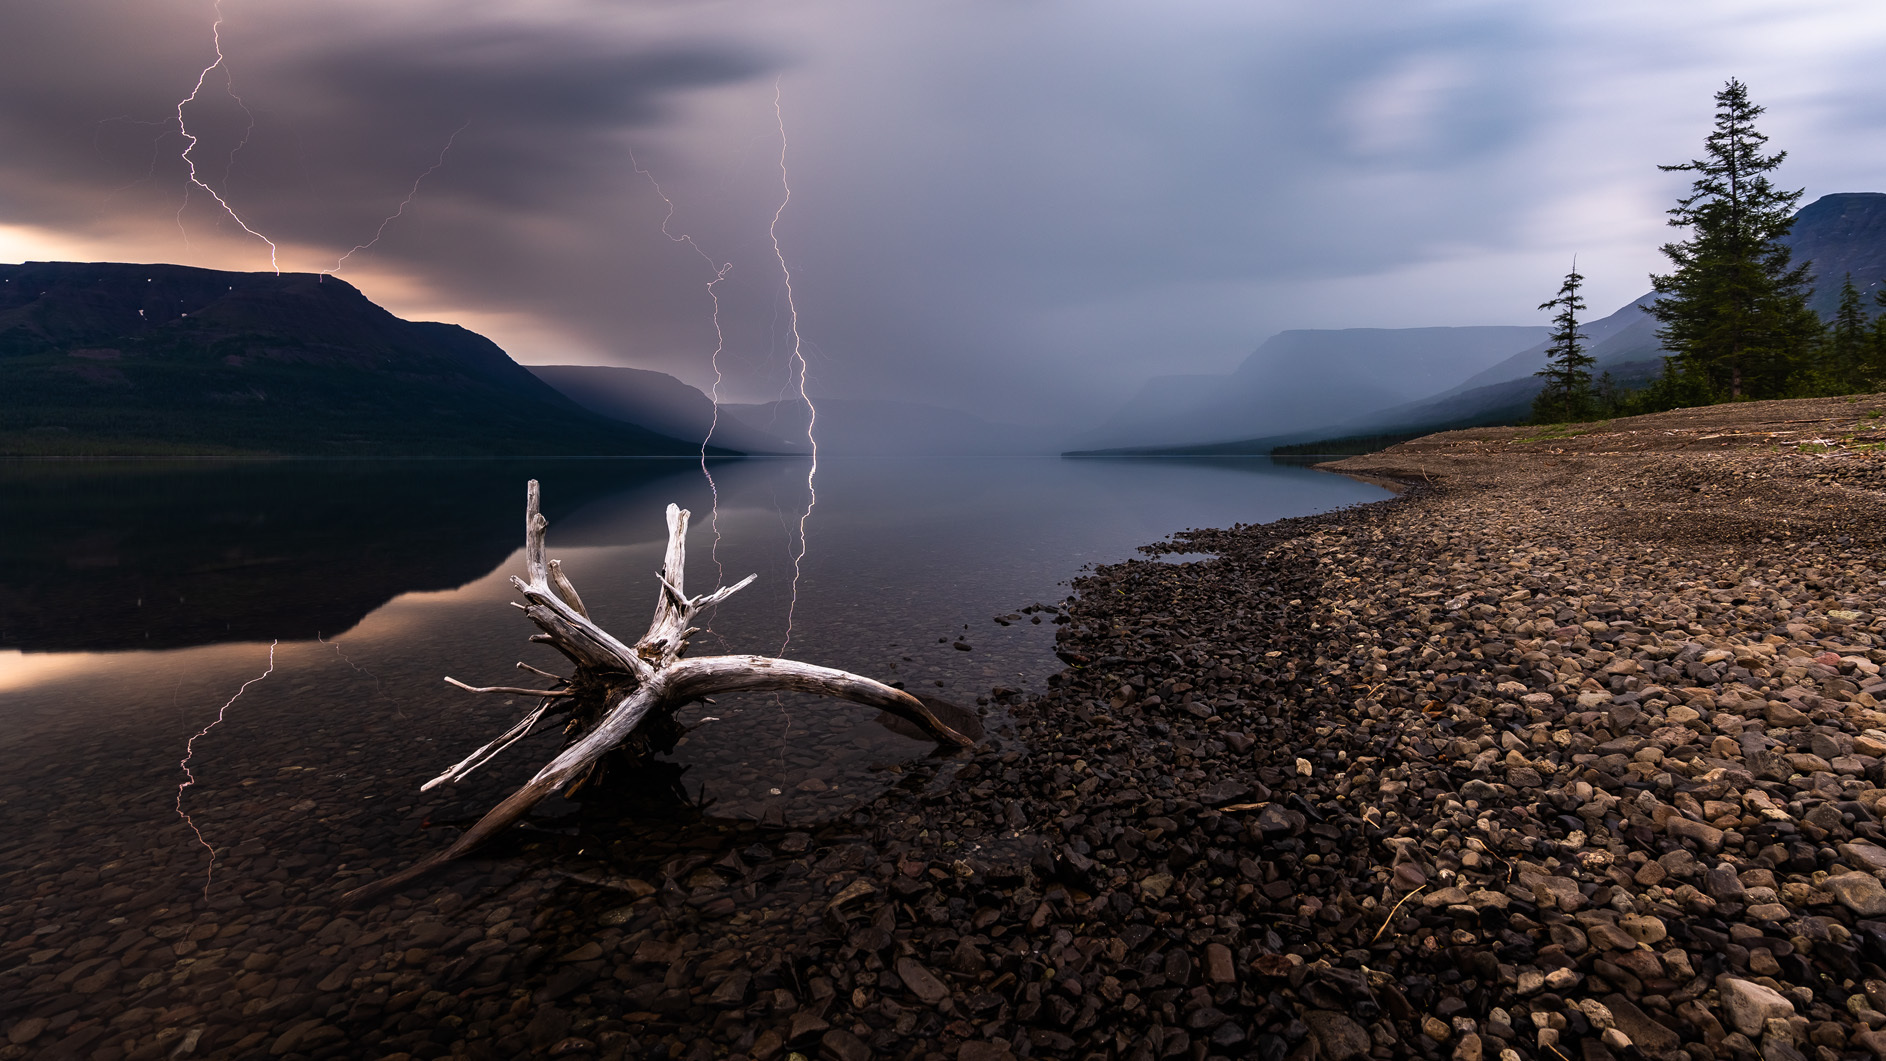
[[[522,541],[690,460],[0,462],[0,648],[313,639],[389,599],[479,579]]]

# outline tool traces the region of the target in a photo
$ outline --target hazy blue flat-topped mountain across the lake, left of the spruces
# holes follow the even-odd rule
[[[1279,332],[1228,375],[1154,377],[1100,428],[1096,447],[1160,447],[1282,433],[1394,405],[1481,371],[1547,335],[1522,328],[1343,328]]]

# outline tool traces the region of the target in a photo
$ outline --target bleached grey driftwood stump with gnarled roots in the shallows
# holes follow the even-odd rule
[[[590,622],[588,609],[583,607],[583,597],[570,584],[562,565],[556,560],[545,560],[543,531],[547,526],[547,520],[538,511],[538,481],[532,479],[524,505],[524,579],[511,577],[511,584],[517,586],[528,603],[513,607],[524,609],[530,622],[538,624],[543,631],[530,639],[562,652],[575,665],[575,673],[562,678],[528,663],[519,663],[519,669],[556,678],[556,688],[551,690],[468,686],[456,678],[445,678],[455,686],[477,694],[534,695],[541,697],[541,701],[517,726],[426,782],[422,790],[456,782],[470,775],[496,758],[498,752],[530,733],[541,731],[539,724],[545,718],[568,718],[564,731],[570,735],[570,743],[534,778],[504,803],[492,807],[449,848],[392,876],[349,891],[343,895],[345,903],[372,899],[470,854],[504,827],[522,818],[551,793],[573,793],[592,778],[609,752],[622,750],[632,758],[641,758],[653,752],[673,750],[675,741],[681,737],[681,729],[675,724],[675,710],[707,695],[775,690],[824,694],[888,710],[917,726],[937,743],[971,744],[969,737],[945,726],[915,695],[860,675],[773,656],[702,656],[698,660],[683,660],[688,637],[700,633],[692,626],[694,616],[702,609],[734,596],[756,579],[756,575],[747,575],[732,586],[700,597],[688,597],[683,592],[688,530],[687,509],[668,505],[668,556],[662,563],[654,620],[649,622],[649,631],[634,645],[624,645]]]

